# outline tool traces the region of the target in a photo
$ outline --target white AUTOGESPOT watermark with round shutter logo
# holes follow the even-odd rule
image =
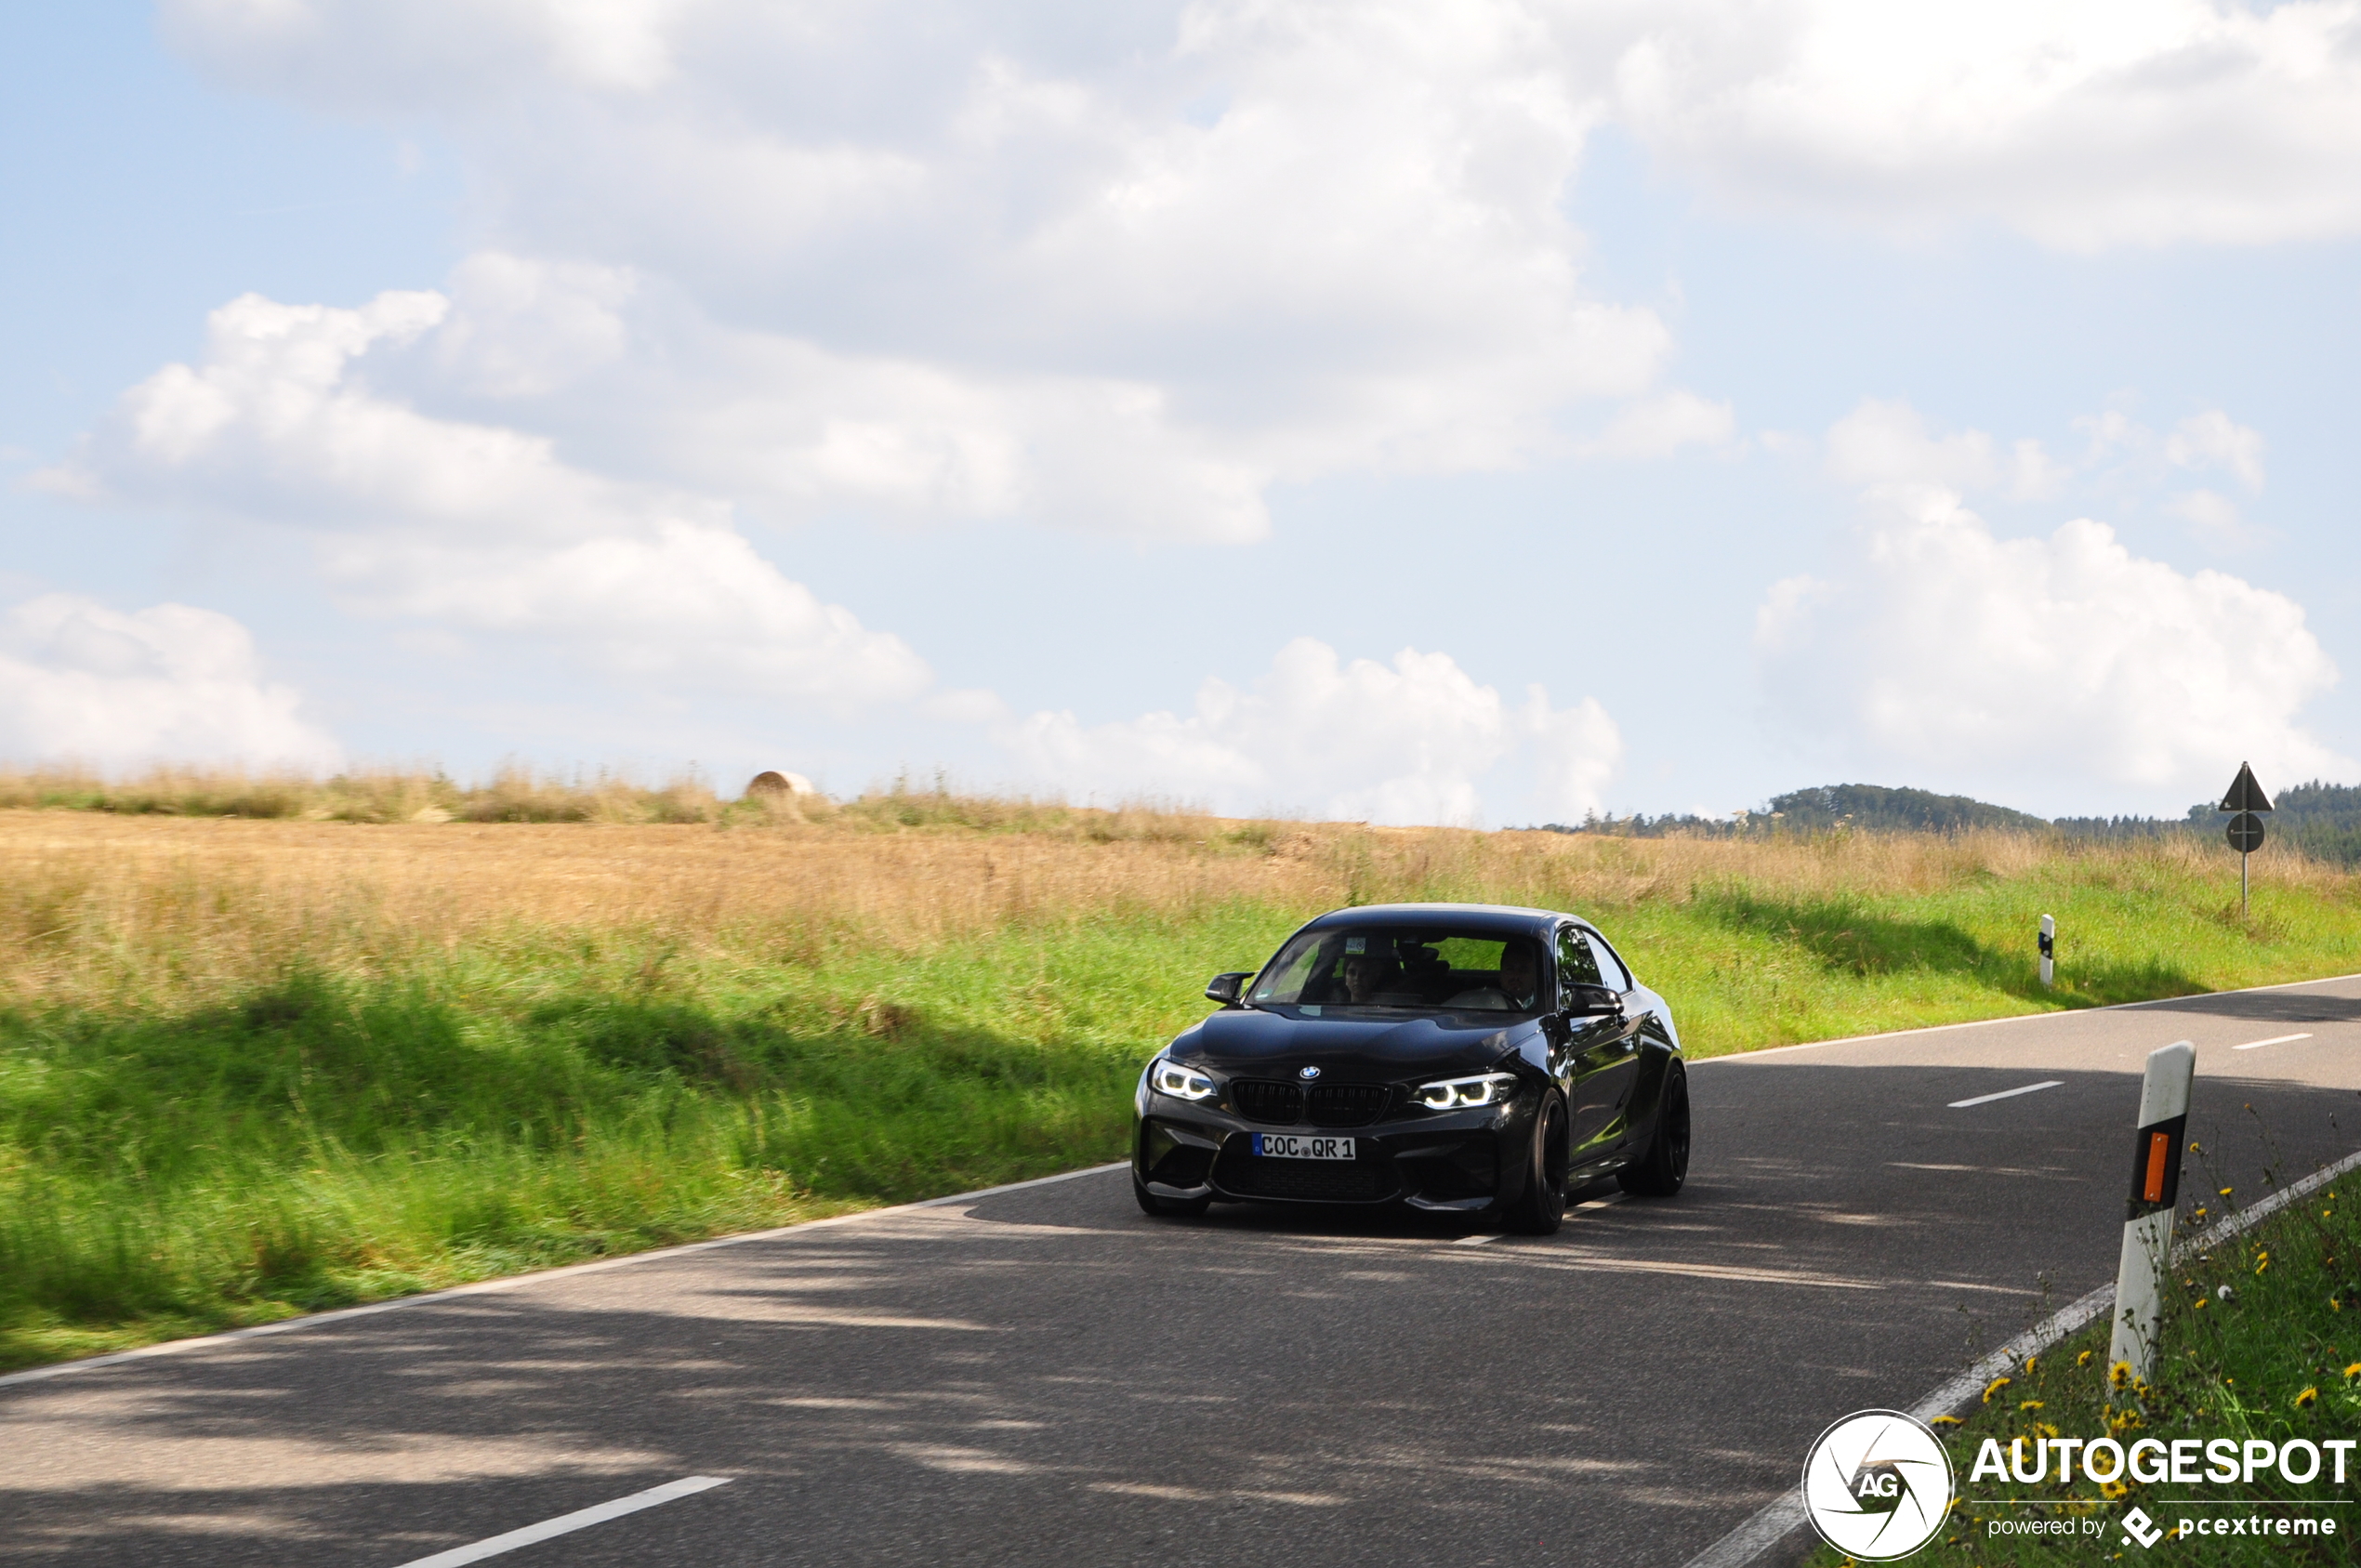
[[[2347,1474],[2361,1478],[2356,1452],[2361,1438],[1986,1438],[1967,1474],[1969,1490],[1979,1481],[2002,1485],[2071,1488],[2087,1481],[2097,1497],[2054,1500],[1964,1500],[1967,1509],[1988,1511],[1981,1533],[1988,1537],[2078,1537],[2120,1556],[2118,1547],[2156,1549],[2196,1537],[2269,1537],[2297,1540],[2340,1537],[2361,1528],[2361,1518],[2340,1521],[2330,1509],[2352,1507],[2347,1497],[2203,1497],[2208,1488],[2255,1488],[2267,1476],[2297,1488],[2344,1488]],[[2123,1516],[2099,1509],[2125,1500],[2132,1483],[2186,1488],[2189,1497],[2149,1497]],[[2064,1507],[2059,1514],[2007,1514],[2009,1507]],[[2165,1518],[2153,1518],[2156,1509]],[[1804,1511],[1811,1528],[1830,1547],[1863,1563],[1905,1559],[1945,1523],[1969,1525],[1953,1511],[1953,1469],[1943,1440],[1917,1417],[1898,1410],[1856,1410],[1834,1422],[1811,1445],[1804,1459]],[[2170,1523],[2165,1523],[2170,1521]]]

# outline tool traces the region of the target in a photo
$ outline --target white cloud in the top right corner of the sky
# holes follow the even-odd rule
[[[1629,17],[1622,7],[1577,14]],[[1657,5],[1615,113],[1740,205],[2064,250],[2361,229],[2349,0]]]

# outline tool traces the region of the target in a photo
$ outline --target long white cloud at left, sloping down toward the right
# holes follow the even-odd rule
[[[449,321],[434,293],[361,309],[246,295],[212,314],[203,364],[132,387],[42,482],[300,529],[357,607],[538,638],[619,673],[836,708],[930,685],[900,638],[864,631],[756,555],[727,508],[583,472],[543,437],[432,418],[371,383],[375,354],[411,345],[437,361],[508,364],[482,333],[432,335]],[[557,309],[555,321],[583,316]],[[564,335],[581,345],[602,331]]]

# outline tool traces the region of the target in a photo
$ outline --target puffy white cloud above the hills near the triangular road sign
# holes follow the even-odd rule
[[[1820,751],[2158,808],[2241,758],[2283,779],[2354,770],[2297,720],[2337,671],[2278,593],[2139,560],[2092,520],[1995,538],[1941,491],[1860,543],[1851,571],[1787,579],[1757,616],[1773,711]]]

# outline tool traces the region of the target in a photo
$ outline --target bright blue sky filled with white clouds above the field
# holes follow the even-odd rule
[[[2354,0],[0,28],[0,765],[2361,782]]]

